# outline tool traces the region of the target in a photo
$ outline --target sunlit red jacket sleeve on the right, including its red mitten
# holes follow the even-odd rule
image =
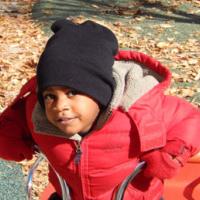
[[[159,117],[166,126],[166,145],[146,152],[141,158],[147,163],[143,172],[146,177],[165,179],[175,176],[188,159],[199,151],[200,111],[173,96],[163,96],[160,102]]]

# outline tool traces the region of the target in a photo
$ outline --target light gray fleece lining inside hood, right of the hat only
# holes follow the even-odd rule
[[[120,106],[128,111],[132,104],[156,86],[160,77],[149,73],[149,69],[133,61],[116,61],[113,65],[116,88],[110,103],[111,109]]]

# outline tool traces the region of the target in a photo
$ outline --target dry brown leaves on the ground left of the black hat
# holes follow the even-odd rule
[[[0,16],[0,111],[34,75],[46,37],[24,17]]]

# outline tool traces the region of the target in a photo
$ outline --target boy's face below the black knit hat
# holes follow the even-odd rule
[[[66,87],[49,87],[43,98],[47,119],[68,136],[88,132],[100,112],[92,98]]]

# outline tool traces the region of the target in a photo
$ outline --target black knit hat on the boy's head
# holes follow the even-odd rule
[[[37,66],[38,99],[50,86],[66,86],[80,91],[103,106],[113,93],[112,65],[118,51],[115,35],[92,21],[76,25],[66,19],[56,21]]]

